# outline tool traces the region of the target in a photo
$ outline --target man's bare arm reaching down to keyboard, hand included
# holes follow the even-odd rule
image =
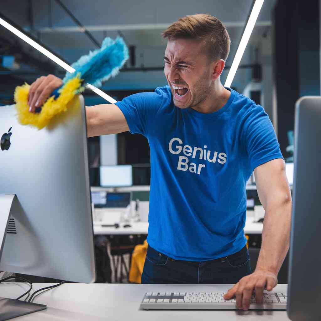
[[[254,170],[257,193],[265,209],[262,247],[255,271],[243,277],[224,296],[236,296],[239,308],[247,310],[252,292],[262,303],[263,290],[277,285],[277,274],[289,249],[291,226],[291,191],[285,174],[285,163],[275,159]]]

